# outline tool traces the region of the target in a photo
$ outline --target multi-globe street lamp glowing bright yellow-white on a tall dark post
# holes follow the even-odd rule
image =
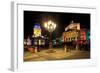
[[[44,27],[50,32],[50,43],[48,52],[54,52],[52,49],[52,32],[55,30],[56,24],[50,20],[48,22],[45,22]]]

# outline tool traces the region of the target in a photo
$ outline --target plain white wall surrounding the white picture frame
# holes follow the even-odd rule
[[[100,2],[99,0],[24,0],[30,1],[36,4],[52,4],[52,5],[75,5],[75,6],[95,6],[97,8],[97,24],[94,27],[96,29],[95,33],[95,46],[98,49],[97,55],[100,55],[100,46],[99,46],[99,19],[100,19]],[[9,70],[10,68],[10,45],[11,45],[11,7],[10,7],[11,0],[0,0],[0,73],[11,73]],[[68,69],[61,69],[61,70],[45,70],[45,71],[35,71],[36,73],[51,73],[51,72],[58,72],[58,73],[99,73],[100,68],[100,57],[98,57],[98,65],[97,67],[82,67],[82,68],[68,68]],[[34,72],[34,71],[30,71]],[[28,73],[28,71],[23,72]]]

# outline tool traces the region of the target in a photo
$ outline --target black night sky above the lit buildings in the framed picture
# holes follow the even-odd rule
[[[52,20],[57,24],[53,32],[54,37],[60,37],[65,27],[67,27],[72,20],[79,22],[81,28],[90,29],[90,14],[24,11],[24,37],[32,36],[33,27],[37,23],[41,25],[42,34],[49,35],[43,26],[44,22],[48,20]]]

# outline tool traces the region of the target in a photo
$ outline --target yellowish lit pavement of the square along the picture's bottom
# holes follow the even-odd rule
[[[62,49],[54,49],[54,52],[48,53],[48,50],[42,50],[37,53],[25,52],[24,61],[49,61],[49,60],[70,60],[70,59],[89,59],[89,51],[65,52]]]

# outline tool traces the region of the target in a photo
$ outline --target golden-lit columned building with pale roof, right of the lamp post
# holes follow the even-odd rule
[[[79,40],[79,31],[80,31],[80,23],[74,23],[73,21],[65,28],[65,32],[63,32],[65,50],[66,50],[66,45],[67,46],[74,45],[73,48],[75,48],[76,50],[79,49],[79,45],[77,43],[77,41]]]

